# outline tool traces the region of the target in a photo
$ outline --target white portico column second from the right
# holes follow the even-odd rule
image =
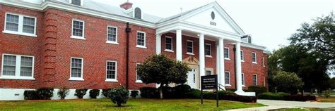
[[[218,55],[219,55],[219,70],[220,73],[218,74],[218,77],[220,79],[220,84],[225,86],[225,60],[224,60],[224,55],[223,55],[223,39],[220,38],[218,41]]]

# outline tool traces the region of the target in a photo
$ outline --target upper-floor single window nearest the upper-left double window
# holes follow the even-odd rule
[[[70,38],[85,39],[85,22],[83,20],[72,20],[72,35]]]

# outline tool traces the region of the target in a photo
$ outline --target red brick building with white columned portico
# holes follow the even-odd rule
[[[194,89],[206,74],[218,74],[220,84],[241,95],[247,86],[267,86],[265,47],[252,44],[216,2],[169,18],[129,2],[0,2],[0,100],[20,100],[24,90],[40,87],[155,86],[141,83],[136,65],[156,53],[189,64]]]

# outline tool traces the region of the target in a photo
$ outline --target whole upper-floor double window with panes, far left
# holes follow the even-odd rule
[[[24,36],[37,37],[36,17],[6,13],[4,23],[4,33],[20,34]]]

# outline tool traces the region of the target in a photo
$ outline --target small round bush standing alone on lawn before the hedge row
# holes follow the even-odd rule
[[[118,86],[111,91],[110,100],[117,106],[126,104],[129,98],[129,91],[124,86]]]

